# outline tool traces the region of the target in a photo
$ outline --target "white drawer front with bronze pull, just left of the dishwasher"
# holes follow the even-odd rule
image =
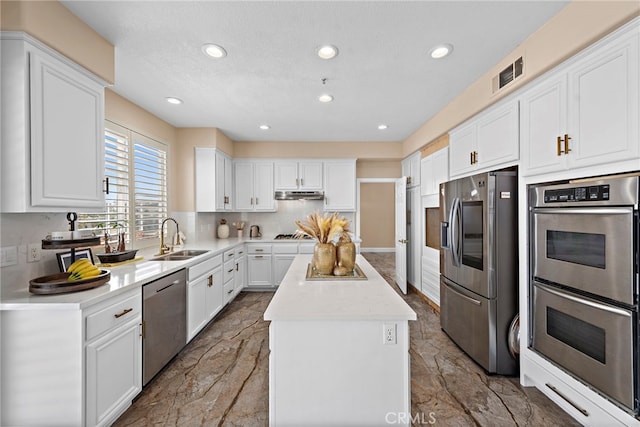
[[[86,317],[87,341],[103,333],[124,325],[142,314],[142,293],[137,291],[125,298],[118,298]]]

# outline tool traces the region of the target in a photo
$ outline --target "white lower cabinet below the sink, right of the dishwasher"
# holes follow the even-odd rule
[[[191,341],[222,310],[222,256],[189,267],[187,277],[187,341]]]

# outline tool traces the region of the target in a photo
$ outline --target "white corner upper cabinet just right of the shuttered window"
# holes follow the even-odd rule
[[[233,208],[231,157],[215,148],[195,148],[197,212],[220,212]]]

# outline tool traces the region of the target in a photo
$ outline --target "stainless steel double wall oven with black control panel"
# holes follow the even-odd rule
[[[636,414],[638,180],[529,188],[529,346]]]

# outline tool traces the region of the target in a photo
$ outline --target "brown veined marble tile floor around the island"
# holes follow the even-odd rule
[[[392,253],[364,255],[394,283]],[[272,295],[240,293],[114,425],[267,426],[269,324],[262,314]],[[579,425],[518,378],[486,375],[440,330],[438,314],[419,295],[404,298],[418,314],[410,322],[414,426]]]

